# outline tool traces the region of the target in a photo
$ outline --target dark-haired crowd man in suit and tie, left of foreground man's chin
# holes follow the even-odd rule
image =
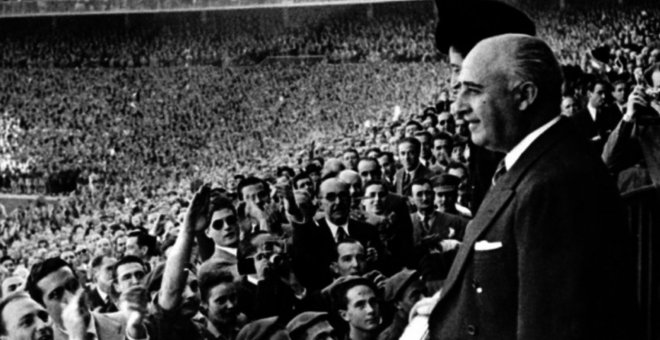
[[[396,193],[410,197],[412,182],[418,178],[431,178],[434,174],[419,162],[422,144],[415,138],[408,137],[399,141],[399,162],[403,167],[394,176]]]

